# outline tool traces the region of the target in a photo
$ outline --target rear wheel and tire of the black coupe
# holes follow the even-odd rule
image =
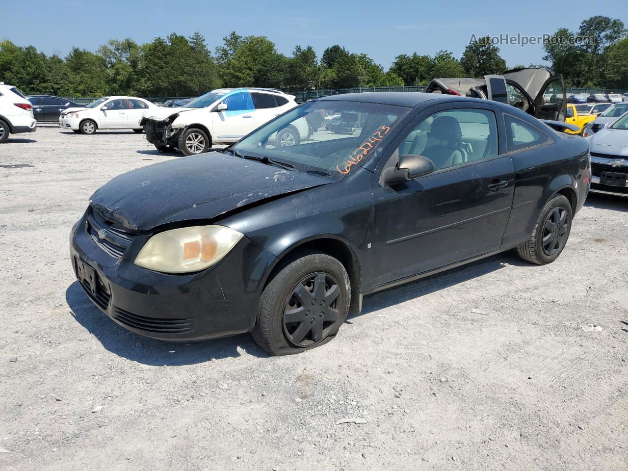
[[[569,200],[563,195],[555,195],[541,211],[528,242],[517,247],[519,256],[538,265],[555,261],[569,239],[572,219]]]

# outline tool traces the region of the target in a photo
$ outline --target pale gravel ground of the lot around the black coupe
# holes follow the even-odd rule
[[[628,467],[628,198],[590,195],[553,264],[507,253],[367,296],[330,344],[269,358],[249,335],[129,333],[74,279],[92,192],[171,158],[126,131],[0,145],[31,165],[0,168],[0,469]]]

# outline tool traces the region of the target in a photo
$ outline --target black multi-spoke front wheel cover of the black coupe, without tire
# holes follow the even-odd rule
[[[311,347],[322,342],[340,318],[338,282],[328,273],[313,273],[293,288],[283,313],[283,331],[296,347]]]

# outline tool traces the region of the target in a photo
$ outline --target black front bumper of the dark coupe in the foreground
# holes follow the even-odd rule
[[[227,337],[253,328],[273,254],[243,237],[205,271],[158,273],[133,264],[150,234],[134,236],[121,256],[112,255],[90,235],[89,212],[70,233],[70,260],[87,296],[114,322],[172,341]]]

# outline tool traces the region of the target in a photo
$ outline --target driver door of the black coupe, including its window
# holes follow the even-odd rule
[[[431,110],[406,127],[379,170],[396,165],[399,154],[420,154],[433,161],[435,171],[391,186],[379,177],[373,181],[376,287],[496,251],[502,244],[514,165],[499,153],[495,112],[470,103]],[[505,145],[501,148],[505,152]]]

